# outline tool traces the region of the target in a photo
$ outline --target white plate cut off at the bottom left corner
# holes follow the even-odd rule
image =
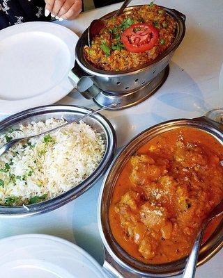
[[[106,278],[102,267],[82,248],[42,234],[0,240],[4,278]]]

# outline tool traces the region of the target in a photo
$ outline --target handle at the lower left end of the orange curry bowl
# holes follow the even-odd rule
[[[121,265],[109,255],[105,249],[105,262],[102,265],[104,272],[109,278],[143,278],[141,275],[134,274],[128,270],[125,270]]]

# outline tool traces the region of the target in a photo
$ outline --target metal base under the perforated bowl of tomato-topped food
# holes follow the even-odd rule
[[[140,88],[139,90],[134,90],[132,92],[128,92],[127,94],[123,95],[114,95],[109,92],[101,91],[93,101],[98,106],[107,106],[110,104],[118,104],[115,107],[109,108],[109,110],[121,110],[125,108],[129,108],[131,106],[139,104],[141,101],[148,99],[151,97],[166,81],[167,76],[169,74],[169,65],[160,72],[155,78],[144,85],[144,87]]]

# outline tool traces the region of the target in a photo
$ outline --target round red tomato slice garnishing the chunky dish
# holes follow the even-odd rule
[[[125,49],[133,52],[145,52],[157,43],[159,33],[151,24],[137,23],[127,28],[121,35]]]

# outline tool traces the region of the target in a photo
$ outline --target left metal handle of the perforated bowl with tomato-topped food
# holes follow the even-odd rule
[[[76,61],[75,66],[68,74],[68,78],[77,92],[82,94],[86,99],[93,99],[100,92],[100,89],[94,85],[92,76],[87,75]]]

